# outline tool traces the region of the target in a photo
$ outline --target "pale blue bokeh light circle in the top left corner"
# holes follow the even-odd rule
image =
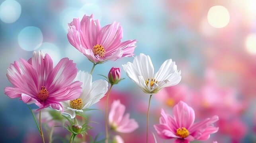
[[[4,23],[13,23],[19,19],[21,6],[15,0],[6,0],[0,6],[0,19]]]

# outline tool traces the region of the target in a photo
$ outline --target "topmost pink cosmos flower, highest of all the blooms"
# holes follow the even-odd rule
[[[133,56],[136,40],[121,42],[123,29],[117,22],[101,28],[93,15],[84,15],[81,21],[74,18],[68,26],[69,43],[94,64]]]

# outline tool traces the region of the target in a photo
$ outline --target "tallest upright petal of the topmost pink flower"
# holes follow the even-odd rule
[[[81,44],[84,48],[92,49],[97,43],[97,35],[100,31],[100,22],[93,20],[93,15],[86,16],[81,20]]]

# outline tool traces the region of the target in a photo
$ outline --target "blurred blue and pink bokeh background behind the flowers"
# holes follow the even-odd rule
[[[68,43],[66,34],[73,18],[94,14],[100,25],[120,22],[123,41],[136,39],[135,55],[151,57],[155,72],[172,58],[182,71],[181,82],[153,95],[149,138],[159,124],[160,109],[172,114],[180,100],[192,106],[196,121],[218,115],[219,131],[206,142],[256,143],[256,2],[254,0],[0,0],[0,139],[1,142],[40,142],[40,135],[26,104],[4,95],[11,86],[6,68],[15,60],[31,58],[34,50],[48,53],[57,64],[68,57],[79,70],[90,72],[92,63]],[[121,100],[126,112],[139,123],[133,133],[113,133],[125,142],[145,142],[146,95],[124,73],[123,58],[97,65],[93,80],[102,79],[111,67],[120,67],[125,80],[110,94]],[[104,109],[105,99],[92,108]],[[32,105],[32,108],[37,107]],[[90,135],[104,138],[104,110],[88,111]],[[47,130],[47,129],[46,129]],[[152,133],[151,133],[152,132]],[[46,133],[45,133],[46,134]],[[67,132],[55,129],[54,142]],[[172,140],[170,140],[172,142]],[[169,142],[169,141],[167,141]],[[205,141],[203,141],[205,142]],[[196,143],[196,141],[195,141]]]

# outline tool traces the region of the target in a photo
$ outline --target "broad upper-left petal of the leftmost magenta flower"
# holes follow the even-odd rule
[[[6,93],[11,94],[8,96],[17,97],[17,92],[22,91],[24,94],[33,98],[37,97],[37,71],[26,60],[20,59],[15,61],[14,64],[10,64],[10,67],[7,68],[6,76],[14,88],[20,89],[14,93],[12,92],[13,89],[7,88]]]

